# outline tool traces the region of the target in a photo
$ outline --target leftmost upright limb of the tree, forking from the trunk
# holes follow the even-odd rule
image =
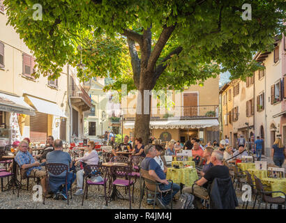
[[[135,47],[135,41],[131,38],[127,38],[128,42],[128,48],[129,48],[129,53],[130,53],[130,58],[131,58],[131,65],[132,65],[132,70],[133,70],[133,79],[134,79],[134,84],[139,89],[140,85],[140,59],[137,54],[137,50]]]

